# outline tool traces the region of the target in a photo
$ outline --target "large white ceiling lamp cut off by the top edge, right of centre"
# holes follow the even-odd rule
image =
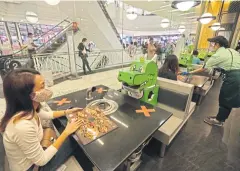
[[[196,7],[201,3],[199,0],[175,0],[172,2],[172,8],[180,11],[188,11],[192,7]]]

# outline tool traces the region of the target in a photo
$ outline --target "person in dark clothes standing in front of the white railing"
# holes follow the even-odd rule
[[[87,46],[87,39],[83,38],[82,42],[79,43],[79,45],[78,45],[78,50],[79,50],[79,56],[82,59],[83,72],[84,72],[85,75],[87,74],[86,73],[86,66],[87,66],[89,72],[92,72],[92,70],[91,70],[91,68],[89,66],[88,60],[87,60],[87,57],[88,57],[87,51],[90,52],[90,50],[87,49],[86,46]]]

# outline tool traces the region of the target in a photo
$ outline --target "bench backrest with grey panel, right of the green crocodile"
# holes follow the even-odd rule
[[[184,119],[189,111],[194,86],[191,84],[158,78],[158,106]]]

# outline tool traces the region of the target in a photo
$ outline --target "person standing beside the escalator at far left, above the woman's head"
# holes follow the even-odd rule
[[[36,53],[35,48],[38,46],[34,44],[33,42],[33,34],[28,33],[28,39],[27,39],[27,48],[28,48],[28,56],[29,60],[26,63],[26,68],[34,68],[34,61],[32,59],[32,55]]]

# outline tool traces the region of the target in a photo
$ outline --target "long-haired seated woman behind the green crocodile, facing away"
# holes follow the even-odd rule
[[[178,66],[178,58],[176,55],[167,56],[163,66],[158,71],[158,77],[177,80]]]

